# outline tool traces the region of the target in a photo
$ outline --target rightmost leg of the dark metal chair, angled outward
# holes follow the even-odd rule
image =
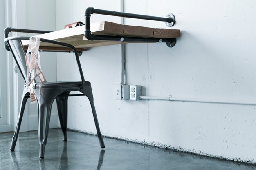
[[[90,89],[87,89],[87,90],[88,90],[87,91],[88,93],[85,93],[85,95],[88,97],[88,99],[90,101],[90,104],[91,104],[92,115],[93,115],[93,118],[94,118],[94,123],[95,123],[95,126],[96,126],[97,135],[98,135],[98,138],[99,138],[99,144],[100,144],[101,148],[105,148],[105,144],[104,144],[104,141],[103,141],[103,137],[101,135],[101,130],[99,128],[99,122],[98,122],[98,118],[97,118],[97,114],[96,114],[96,110],[95,110],[95,106],[94,106],[94,102],[93,102],[92,88],[90,87]]]

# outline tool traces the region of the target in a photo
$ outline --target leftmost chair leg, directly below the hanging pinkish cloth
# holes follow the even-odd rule
[[[26,102],[27,102],[27,97],[25,97],[26,93],[27,93],[26,91],[23,91],[22,101],[21,101],[21,104],[20,104],[20,113],[19,113],[19,116],[18,116],[16,129],[15,129],[12,141],[11,141],[11,147],[10,147],[11,151],[14,151],[14,149],[15,149],[16,142],[17,142],[17,139],[18,139],[18,135],[19,135],[19,132],[20,132],[20,125],[21,125],[23,113],[24,113],[24,110],[25,110],[25,105],[26,105]]]

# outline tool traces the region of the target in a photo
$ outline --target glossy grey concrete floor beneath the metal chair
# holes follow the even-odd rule
[[[11,152],[13,132],[0,134],[0,170],[254,170],[256,166],[174,152],[132,142],[98,138],[68,131],[62,141],[59,129],[49,130],[45,159],[39,159],[38,132],[20,133]]]

